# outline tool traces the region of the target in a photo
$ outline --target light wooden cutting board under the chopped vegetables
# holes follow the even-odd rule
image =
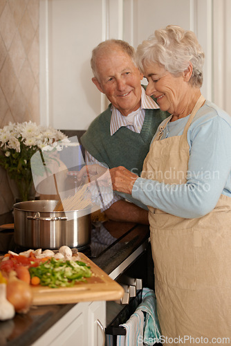
[[[91,302],[93,300],[119,300],[124,294],[122,286],[109,277],[100,267],[89,260],[83,253],[78,253],[76,260],[91,266],[93,275],[73,287],[51,289],[46,286],[32,286],[33,304],[72,304]]]

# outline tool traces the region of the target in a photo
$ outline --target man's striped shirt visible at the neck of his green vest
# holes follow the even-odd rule
[[[118,131],[118,129],[120,129],[122,126],[140,134],[143,122],[145,120],[145,109],[158,108],[160,108],[158,104],[150,96],[146,95],[144,88],[142,88],[140,108],[131,112],[128,116],[122,116],[118,109],[111,106],[111,136],[113,136],[113,134],[115,134],[115,132]]]

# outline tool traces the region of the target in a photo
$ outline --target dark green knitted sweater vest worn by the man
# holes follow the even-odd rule
[[[140,134],[127,127],[120,127],[111,136],[111,104],[109,104],[106,111],[91,122],[89,129],[81,137],[81,142],[94,158],[101,163],[106,163],[109,168],[124,166],[140,176],[151,139],[160,122],[167,116],[169,113],[160,109],[146,109]]]

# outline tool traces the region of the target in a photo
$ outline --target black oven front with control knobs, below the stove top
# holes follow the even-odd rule
[[[149,242],[145,251],[142,251],[115,281],[123,286],[124,297],[120,302],[107,302],[107,346],[116,346],[117,336],[126,335],[126,329],[120,325],[129,320],[141,303],[142,287],[154,289],[154,264]]]

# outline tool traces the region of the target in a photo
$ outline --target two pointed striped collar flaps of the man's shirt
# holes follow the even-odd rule
[[[158,104],[148,95],[145,93],[145,89],[141,88],[141,100],[140,100],[140,108],[138,109],[138,116],[142,118],[142,122],[145,118],[145,109],[159,109],[160,107]],[[113,105],[111,105],[111,122],[110,122],[110,132],[111,136],[115,134],[118,129],[122,126],[127,126],[126,121],[124,120],[124,116],[120,113],[120,111],[115,108]]]

